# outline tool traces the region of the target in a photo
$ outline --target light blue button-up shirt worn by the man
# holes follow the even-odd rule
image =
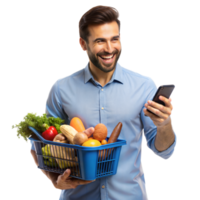
[[[53,82],[45,102],[48,116],[63,118],[67,124],[73,117],[79,117],[86,128],[103,123],[108,137],[118,122],[122,122],[119,139],[127,142],[122,146],[116,175],[98,178],[76,189],[62,190],[59,200],[148,199],[142,154],[144,142],[165,160],[173,156],[177,144],[174,132],[175,141],[167,150],[158,152],[154,146],[157,128],[144,115],[143,108],[147,100],[153,98],[157,87],[152,77],[128,69],[120,62],[104,87],[94,80],[89,62]],[[34,149],[34,145],[30,148]]]

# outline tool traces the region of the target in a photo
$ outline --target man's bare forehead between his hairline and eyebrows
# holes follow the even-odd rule
[[[108,39],[113,36],[119,35],[119,26],[115,21],[101,25],[89,26],[88,30],[90,32],[89,40],[98,37]]]

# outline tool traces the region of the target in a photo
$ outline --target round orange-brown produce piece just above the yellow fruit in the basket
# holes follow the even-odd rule
[[[99,123],[94,127],[95,131],[93,133],[93,138],[99,141],[105,140],[108,134],[107,127]]]

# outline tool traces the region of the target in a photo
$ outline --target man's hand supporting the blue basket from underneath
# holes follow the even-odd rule
[[[93,182],[69,177],[70,173],[70,169],[66,169],[63,174],[59,175],[57,181],[52,183],[54,188],[57,190],[75,189],[78,185],[86,185]]]

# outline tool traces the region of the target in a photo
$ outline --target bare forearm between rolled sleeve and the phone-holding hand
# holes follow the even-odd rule
[[[155,147],[158,151],[168,149],[174,143],[174,139],[175,136],[171,122],[163,127],[157,127]]]

